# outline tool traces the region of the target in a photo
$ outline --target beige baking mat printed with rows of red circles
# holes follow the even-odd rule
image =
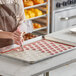
[[[72,45],[67,45],[44,38],[40,38],[35,42],[25,44],[23,47],[24,51],[20,51],[20,47],[17,47],[8,50],[7,53],[3,53],[2,55],[28,63],[36,63],[65,52],[72,51],[72,49],[75,48],[75,46]]]

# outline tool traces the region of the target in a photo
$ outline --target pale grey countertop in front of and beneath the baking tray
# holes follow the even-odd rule
[[[67,30],[53,33],[51,34],[51,36],[55,34],[57,34],[57,36],[60,34],[63,35],[64,31],[66,32]],[[69,36],[67,36],[67,39],[69,39]],[[18,60],[13,60],[0,56],[0,71],[13,76],[38,76],[41,73],[57,69],[73,62],[76,62],[75,49],[71,52],[44,60],[36,64],[28,64]]]

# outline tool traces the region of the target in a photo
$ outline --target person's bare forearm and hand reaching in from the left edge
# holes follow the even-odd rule
[[[1,39],[12,39],[12,40],[14,40],[15,44],[20,45],[20,43],[21,43],[21,32],[19,32],[18,30],[16,30],[15,32],[2,31],[2,32],[0,32],[0,38]]]

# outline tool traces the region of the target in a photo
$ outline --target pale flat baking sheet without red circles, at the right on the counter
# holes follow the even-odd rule
[[[46,39],[76,46],[76,33],[71,28],[45,35]]]

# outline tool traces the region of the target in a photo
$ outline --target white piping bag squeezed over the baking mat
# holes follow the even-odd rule
[[[22,32],[21,33],[21,38],[23,38],[23,33],[32,33],[33,32],[33,25],[32,25],[32,21],[30,20],[27,20],[25,21],[22,25],[20,25],[18,28],[17,28],[18,31]],[[22,39],[21,39],[22,40]],[[20,40],[20,47],[22,48],[22,50],[24,51],[24,48],[23,48],[23,44],[22,44],[22,41]]]

